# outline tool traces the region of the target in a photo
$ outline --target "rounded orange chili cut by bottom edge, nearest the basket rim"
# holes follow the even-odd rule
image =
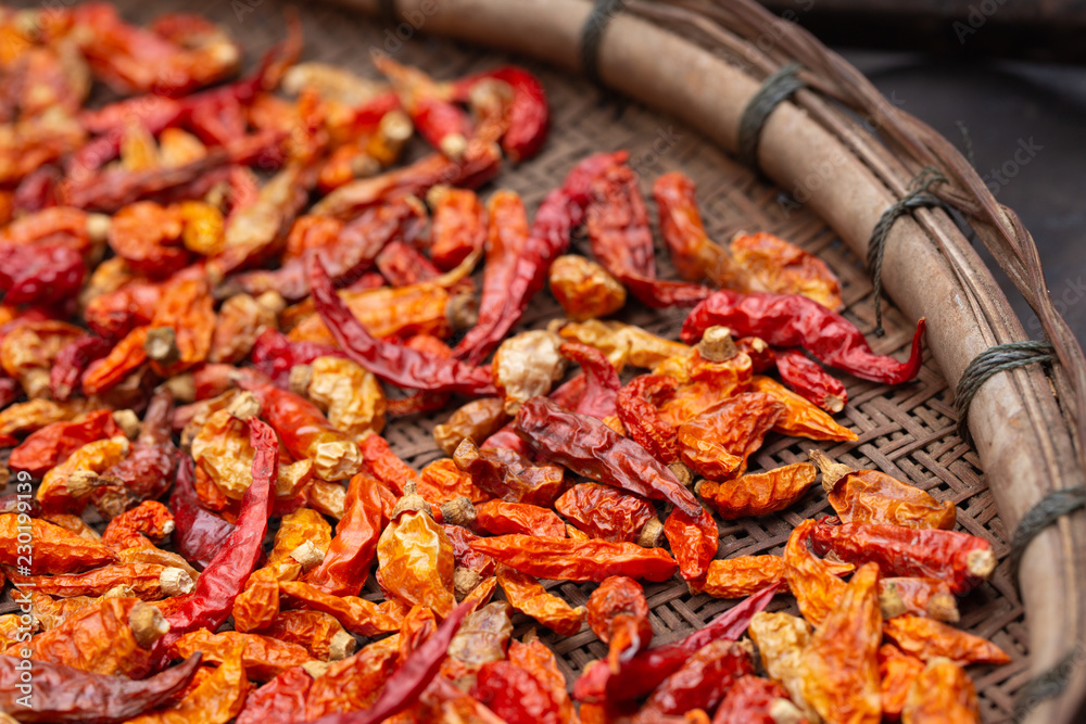
[[[909,687],[901,707],[902,724],[981,721],[976,689],[961,666],[948,659],[930,661]]]

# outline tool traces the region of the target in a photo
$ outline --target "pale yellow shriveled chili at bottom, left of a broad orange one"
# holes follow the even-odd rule
[[[813,633],[811,625],[791,613],[762,611],[750,619],[748,633],[769,677],[784,687],[808,721],[819,721],[804,686],[804,651]]]

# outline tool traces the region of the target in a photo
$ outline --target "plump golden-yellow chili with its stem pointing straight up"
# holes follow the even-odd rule
[[[388,593],[447,617],[456,606],[453,594],[453,544],[434,522],[430,506],[405,486],[377,542],[377,581]]]

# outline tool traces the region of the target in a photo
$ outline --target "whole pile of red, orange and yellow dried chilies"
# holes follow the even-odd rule
[[[747,471],[767,436],[856,441],[823,365],[908,382],[923,320],[907,361],[876,355],[824,263],[768,233],[718,245],[678,173],[653,196],[682,280],[657,278],[624,152],[531,219],[483,201],[543,144],[536,78],[375,56],[366,79],[299,63],[289,25],[235,78],[241,49],[193,15],[0,10],[0,710],[975,721],[962,666],[1008,657],[951,625],[995,566],[954,504],[818,449]],[[127,98],[85,107],[97,82]],[[415,131],[433,151],[397,166]],[[568,319],[513,334],[547,285]],[[683,342],[601,319],[628,295],[693,307]],[[381,436],[454,404],[421,470]],[[835,518],[717,557],[719,520],[810,500],[820,471]],[[745,600],[653,646],[639,581],[677,574]],[[573,607],[542,581],[598,586]],[[785,593],[801,618],[766,611]],[[605,645],[572,697],[514,611]]]

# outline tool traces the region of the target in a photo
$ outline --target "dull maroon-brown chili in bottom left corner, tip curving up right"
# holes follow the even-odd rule
[[[200,665],[194,653],[176,666],[142,681],[96,674],[48,661],[34,663],[30,706],[17,699],[21,658],[0,656],[0,709],[18,711],[23,722],[119,724],[168,702],[192,681]]]

